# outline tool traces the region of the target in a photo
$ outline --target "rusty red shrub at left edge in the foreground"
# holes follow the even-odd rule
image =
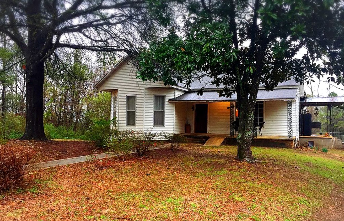
[[[18,186],[32,162],[34,152],[20,144],[0,146],[0,191]]]

